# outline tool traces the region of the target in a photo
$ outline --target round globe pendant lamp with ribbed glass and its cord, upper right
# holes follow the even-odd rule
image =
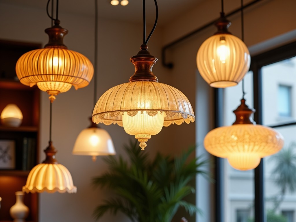
[[[218,31],[205,40],[197,52],[197,68],[202,78],[212,87],[235,86],[250,68],[250,53],[242,40],[228,31],[231,22],[223,11],[215,23]]]

